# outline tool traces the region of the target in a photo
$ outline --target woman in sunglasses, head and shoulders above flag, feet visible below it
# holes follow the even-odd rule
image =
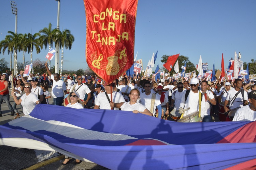
[[[66,107],[84,108],[84,106],[81,103],[78,102],[79,101],[79,97],[80,96],[79,96],[79,94],[77,92],[71,91],[69,93],[69,98],[70,98],[71,102]],[[70,161],[71,161],[71,158],[65,155],[65,160],[64,160],[63,163],[61,163],[61,165],[67,165],[67,164],[70,163]],[[76,164],[80,164],[81,162],[82,162],[82,160],[79,160],[79,159],[75,160]]]

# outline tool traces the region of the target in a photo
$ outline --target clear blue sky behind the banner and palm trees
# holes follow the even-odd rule
[[[36,33],[49,22],[57,26],[55,0],[16,0],[18,33]],[[86,19],[83,0],[61,0],[60,30],[69,29],[75,37],[71,50],[64,50],[63,70],[86,69]],[[0,40],[8,31],[15,32],[15,15],[9,0],[0,2]],[[134,55],[146,67],[153,52],[158,50],[156,64],[162,67],[161,56],[178,54],[189,57],[195,65],[199,56],[212,69],[221,69],[224,53],[225,68],[234,51],[240,51],[243,62],[256,59],[256,0],[139,0],[136,18]],[[48,48],[47,48],[48,49]],[[33,60],[46,61],[48,50],[33,52]],[[5,52],[0,58],[10,62]],[[135,57],[135,56],[134,56]],[[23,61],[22,53],[18,61]],[[52,65],[55,63],[52,60]],[[30,54],[25,54],[30,61]],[[155,66],[156,67],[156,66]],[[181,67],[181,66],[180,66]],[[155,68],[153,68],[155,70]]]

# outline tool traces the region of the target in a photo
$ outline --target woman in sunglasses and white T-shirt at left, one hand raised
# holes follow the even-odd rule
[[[31,92],[32,85],[30,83],[26,83],[24,86],[25,94],[22,95],[22,97],[18,100],[15,96],[15,93],[12,91],[12,96],[14,99],[14,102],[19,105],[21,104],[23,107],[23,113],[24,115],[28,115],[32,112],[36,104],[39,104],[40,101],[37,98],[37,95],[33,94]]]

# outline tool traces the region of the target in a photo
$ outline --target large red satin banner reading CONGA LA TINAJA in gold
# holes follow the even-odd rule
[[[86,62],[111,83],[133,64],[138,0],[84,0]]]

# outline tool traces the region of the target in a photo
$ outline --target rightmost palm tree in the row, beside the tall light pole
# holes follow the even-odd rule
[[[56,42],[59,43],[61,47],[61,67],[60,74],[62,74],[62,66],[63,66],[63,47],[69,50],[72,48],[72,44],[75,40],[75,37],[71,34],[70,30],[63,30],[57,34]]]

